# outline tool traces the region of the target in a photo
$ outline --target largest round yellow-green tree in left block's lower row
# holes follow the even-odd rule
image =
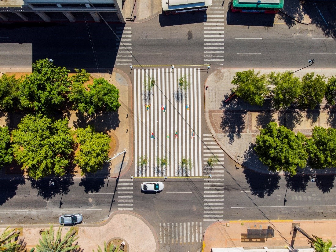
[[[41,114],[27,115],[12,131],[14,159],[23,164],[30,177],[65,174],[73,151],[68,123],[67,119],[53,121]]]

